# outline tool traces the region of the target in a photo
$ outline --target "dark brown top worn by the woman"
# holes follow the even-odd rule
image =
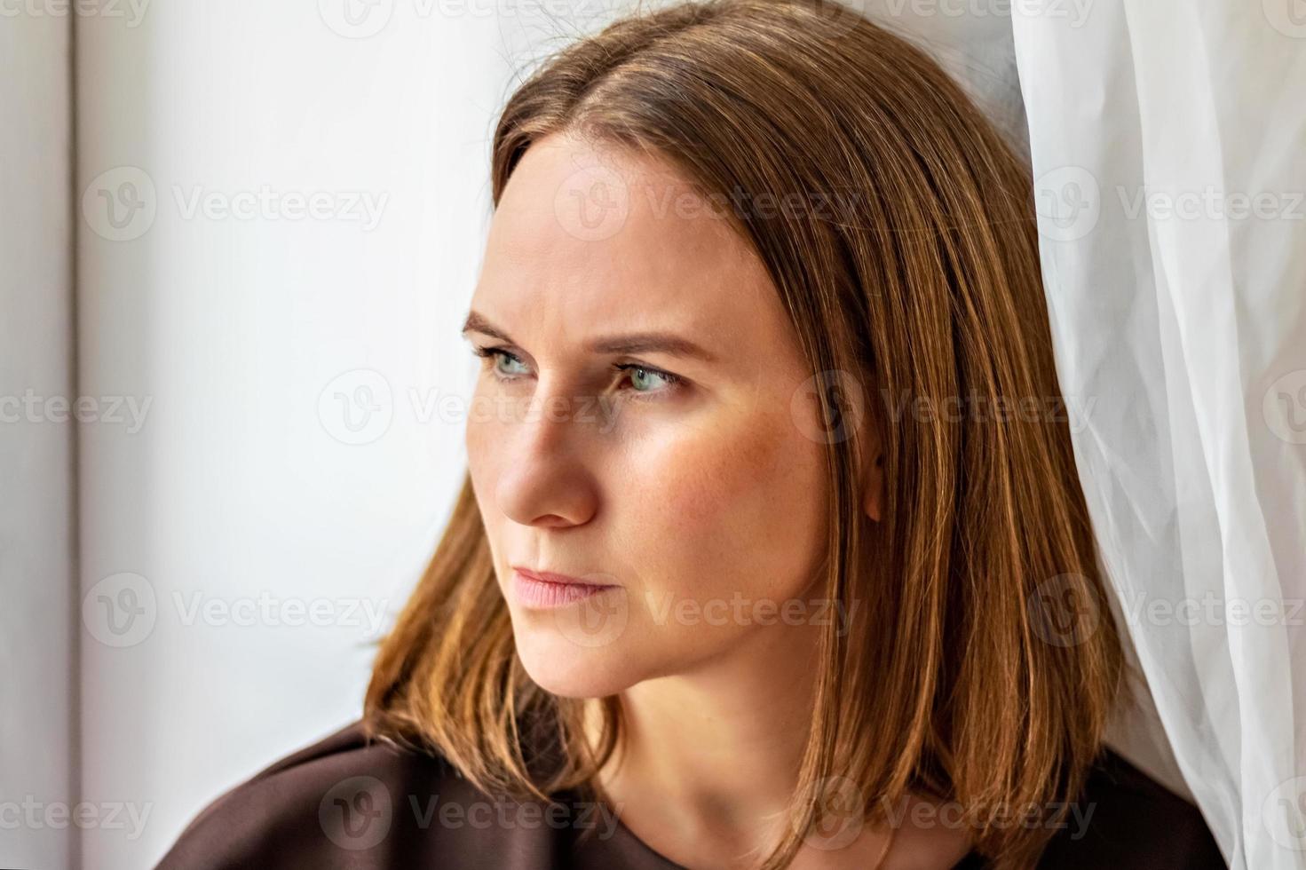
[[[1224,870],[1202,814],[1107,750],[1038,867]],[[977,853],[953,870],[989,866]],[[230,789],[155,870],[684,870],[603,805],[495,801],[445,759],[368,742],[362,722]]]

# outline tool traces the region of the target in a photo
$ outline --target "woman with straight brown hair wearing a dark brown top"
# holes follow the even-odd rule
[[[1119,635],[1029,171],[807,0],[509,99],[469,474],[364,716],[162,867],[1222,867],[1104,746]]]

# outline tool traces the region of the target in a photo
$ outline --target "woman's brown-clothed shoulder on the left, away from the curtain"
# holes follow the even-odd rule
[[[529,849],[471,818],[494,811],[439,754],[371,738],[355,721],[217,797],[157,870],[461,866],[464,854],[492,861],[503,849]],[[538,845],[538,835],[522,833]]]

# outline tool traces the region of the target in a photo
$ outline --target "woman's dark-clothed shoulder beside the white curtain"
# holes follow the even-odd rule
[[[1047,870],[1225,870],[1196,806],[1102,747],[1080,798],[1038,862]]]

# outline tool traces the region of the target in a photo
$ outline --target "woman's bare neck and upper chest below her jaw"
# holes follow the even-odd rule
[[[598,782],[649,848],[691,870],[742,869],[780,844],[812,720],[820,628],[768,626],[726,658],[622,692],[622,742]],[[586,712],[597,745],[599,704]],[[875,867],[887,837],[865,826],[842,848],[804,844],[790,870]],[[969,848],[965,831],[908,822],[883,869],[952,867]]]

